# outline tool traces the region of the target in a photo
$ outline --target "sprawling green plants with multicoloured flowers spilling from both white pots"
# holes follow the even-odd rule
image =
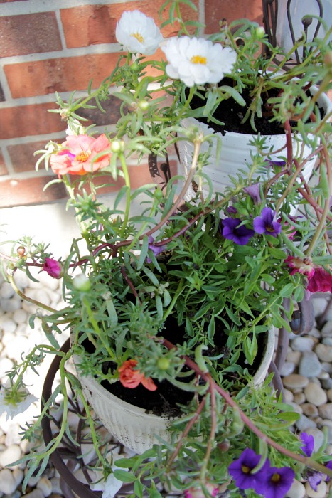
[[[262,75],[272,57],[257,57],[259,43],[267,41],[255,23],[246,23],[245,31],[238,28],[243,45],[235,43],[226,23],[208,40],[191,37],[178,11],[180,2],[168,4],[166,23],[173,22],[176,11],[183,36],[164,44],[167,63],[144,57],[164,43],[154,21],[138,11],[125,12],[117,39],[128,53],[112,75],[97,90],[89,88],[87,97],[75,100],[73,95],[63,102],[58,96],[67,137],[39,151],[38,165],[45,161],[58,176],[53,181],[67,187],[81,237],[73,240],[66,258],[30,238],[16,241],[10,255],[1,255],[6,277],[20,295],[16,272],[33,278],[35,267],[63,279],[66,302],[60,310],[40,303],[44,312],[34,318],[41,320],[50,346],[36,346],[9,373],[4,402],[8,408],[26,407],[25,398],[31,395],[23,373],[29,366],[36,369],[48,353],[61,356],[63,396],[65,379],[73,381],[63,366],[73,355],[81,378],[107,382],[110,391],[124,388],[129,400],[136,390],[146,398],[171,385],[171,391],[177,388],[181,394],[169,440],[117,460],[114,470],[95,436],[98,465],[107,482],[105,498],[115,494],[112,479],[134,482],[133,497],[161,496],[158,482],[187,498],[221,496],[226,490],[237,497],[239,489],[250,497],[283,497],[294,478],[309,475],[308,467],[313,487],[332,475],[324,448],[313,454],[310,436],[289,430],[297,415],[269,386],[272,375],[259,386],[252,381],[269,330],[290,330],[296,303],[311,292],[332,290],[328,116],[321,117],[314,107],[317,94],[330,88],[331,52],[324,40],[315,41],[306,66],[294,70],[297,83],[290,73],[274,78],[279,94],[270,102],[272,119],[288,132],[291,126],[297,129],[309,142],[311,157],[318,157],[311,184],[301,174],[307,159],[293,155],[289,139],[276,162],[257,137],[251,164],[240,175],[230,175],[231,186],[215,192],[204,173],[210,149],[200,154],[201,145],[213,142],[213,136],[183,129],[181,119],[205,115],[215,120],[221,100],[232,97],[242,104],[244,82],[256,80],[259,92],[253,94],[249,113],[255,127],[259,95],[266,90]],[[274,55],[281,52],[272,50]],[[139,53],[143,55],[133,55]],[[151,68],[157,75],[149,73]],[[236,85],[218,85],[224,75]],[[315,95],[304,90],[309,80],[321,81]],[[291,90],[282,81],[289,81]],[[122,100],[122,115],[115,132],[94,136],[92,127],[84,127],[80,110],[95,100],[102,111],[111,85]],[[191,108],[194,95],[203,99],[202,107]],[[301,95],[301,101],[290,95]],[[307,122],[311,115],[314,120]],[[306,137],[308,130],[313,139]],[[167,164],[166,150],[183,140],[193,143],[188,176],[163,181],[156,157]],[[161,181],[132,191],[128,160],[144,154]],[[118,176],[124,186],[109,207],[98,195],[96,180],[112,184]],[[196,194],[184,201],[194,176]],[[140,209],[133,212],[137,198]],[[63,327],[71,329],[67,354],[57,339]],[[80,383],[74,391],[84,400]],[[48,408],[52,403],[54,398]],[[66,417],[64,410],[62,432]],[[35,428],[26,428],[25,438],[32,438],[41,418]],[[41,462],[45,465],[58,443],[55,438],[44,452],[25,458],[28,475]]]

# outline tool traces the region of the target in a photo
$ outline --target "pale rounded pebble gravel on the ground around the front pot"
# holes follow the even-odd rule
[[[25,275],[18,276],[19,287],[29,297],[45,302],[51,307],[61,307],[59,282],[48,275],[39,275],[41,282],[28,281]],[[316,317],[326,308],[329,295],[314,297]],[[45,336],[36,320],[35,329],[28,325],[28,317],[36,311],[33,304],[22,302],[14,295],[10,285],[0,277],[0,381],[6,382],[6,371],[9,371],[16,361],[20,361],[22,352],[30,351],[34,344],[43,342]],[[63,341],[68,334],[63,334]],[[40,376],[31,375],[26,383],[29,390],[41,397],[45,373],[49,362],[43,364]],[[318,448],[323,442],[323,427],[328,430],[327,452],[332,454],[332,307],[327,314],[326,324],[318,330],[314,328],[310,334],[296,337],[291,335],[287,360],[282,368],[282,380],[285,388],[285,398],[294,406],[294,410],[301,414],[296,422],[300,431],[314,435],[315,445]],[[4,468],[7,464],[18,460],[28,450],[29,443],[21,441],[21,426],[32,421],[33,416],[39,415],[39,403],[35,402],[26,412],[14,416],[13,420],[6,420],[6,414],[0,415],[0,498],[19,498],[22,496],[21,483],[25,465]],[[73,424],[77,422],[75,416]],[[126,451],[122,448],[121,451]],[[89,458],[92,458],[90,456]],[[82,470],[76,473],[82,475]],[[325,498],[328,496],[329,484],[321,482],[316,492],[308,483],[294,482],[287,497],[289,498]],[[53,467],[45,470],[43,477],[32,477],[28,482],[26,497],[31,498],[60,498],[64,491],[60,488],[58,473]],[[120,495],[119,495],[120,496]]]

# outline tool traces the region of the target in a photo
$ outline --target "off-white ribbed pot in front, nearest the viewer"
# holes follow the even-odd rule
[[[264,381],[272,360],[274,329],[271,329],[267,336],[264,337],[266,338],[266,344],[262,363],[254,376],[256,386]],[[74,357],[74,363],[79,364],[80,359]],[[92,376],[82,376],[77,371],[77,377],[82,385],[83,393],[90,406],[95,410],[97,417],[109,433],[114,435],[120,443],[136,453],[143,453],[149,450],[152,445],[159,443],[155,435],[168,442],[170,441],[170,433],[167,429],[172,419],[146,413],[143,408],[122,401],[117,396],[109,393]]]

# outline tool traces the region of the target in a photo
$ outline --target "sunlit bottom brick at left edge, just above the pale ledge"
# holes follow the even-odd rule
[[[31,206],[67,197],[63,184],[53,184],[43,191],[51,178],[50,176],[36,176],[29,179],[0,181],[0,208]]]

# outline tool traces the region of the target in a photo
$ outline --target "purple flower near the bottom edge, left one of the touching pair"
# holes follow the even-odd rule
[[[239,489],[253,488],[255,492],[264,494],[267,485],[267,471],[269,470],[269,460],[264,462],[262,468],[252,473],[252,470],[257,467],[261,455],[257,455],[254,450],[246,448],[240,458],[235,460],[228,467],[228,472],[235,480],[235,484]]]

